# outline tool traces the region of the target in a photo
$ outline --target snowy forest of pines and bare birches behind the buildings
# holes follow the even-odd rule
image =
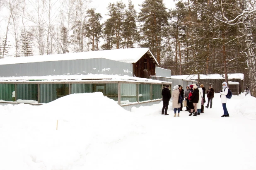
[[[89,3],[0,0],[0,58],[147,47],[172,75],[244,73],[256,96],[255,0],[117,1],[106,14]]]

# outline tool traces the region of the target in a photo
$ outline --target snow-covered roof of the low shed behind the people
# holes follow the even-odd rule
[[[236,73],[236,74],[227,74],[228,79],[244,79],[244,74],[242,73]],[[181,75],[181,76],[171,76],[171,78],[174,79],[193,79],[197,80],[198,76],[197,74],[192,75]],[[200,74],[200,79],[225,79],[225,74]]]

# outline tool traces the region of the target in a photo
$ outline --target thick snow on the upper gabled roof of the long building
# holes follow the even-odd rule
[[[81,60],[90,58],[106,58],[120,62],[135,63],[147,53],[158,64],[154,55],[148,48],[126,48],[117,50],[100,50],[89,51],[82,53],[66,53],[66,54],[53,54],[53,55],[35,55],[31,57],[7,57],[0,60],[0,65],[18,64],[28,62],[46,62],[46,61],[60,61],[60,60]]]

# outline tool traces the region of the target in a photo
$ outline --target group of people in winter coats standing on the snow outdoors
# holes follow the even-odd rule
[[[227,103],[227,83],[222,83],[223,89],[222,91],[218,91],[221,93],[221,102],[224,111],[224,115],[222,117],[229,117],[229,113],[227,111],[226,103]],[[227,87],[228,88],[228,87]],[[174,109],[174,117],[177,117],[176,113],[178,112],[178,117],[180,111],[183,108],[183,102],[180,102],[179,98],[181,97],[183,100],[186,101],[186,110],[189,112],[189,116],[197,116],[200,113],[204,113],[204,103],[205,101],[205,92],[207,93],[208,103],[205,108],[212,108],[213,106],[213,98],[214,98],[214,89],[213,86],[210,85],[208,90],[206,91],[203,84],[200,86],[198,84],[192,84],[186,86],[186,90],[184,91],[181,85],[174,86],[172,93],[170,94],[169,85],[166,85],[162,90],[163,96],[163,108],[162,108],[162,115],[169,115],[167,113],[168,105],[170,98],[172,98],[172,108]]]

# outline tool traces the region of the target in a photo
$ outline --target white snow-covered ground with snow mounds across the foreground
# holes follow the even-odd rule
[[[171,103],[128,112],[99,92],[0,105],[0,170],[255,170],[255,103],[232,96],[230,117],[219,93],[197,117]]]

